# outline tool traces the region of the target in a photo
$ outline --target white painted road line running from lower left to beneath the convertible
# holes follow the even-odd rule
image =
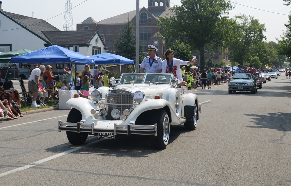
[[[50,156],[50,157],[48,157],[48,158],[45,158],[45,159],[42,159],[42,160],[38,160],[38,161],[33,162],[33,163],[31,163],[31,164],[24,165],[23,167],[18,167],[18,168],[16,168],[16,169],[13,169],[13,170],[10,170],[10,171],[7,171],[7,172],[4,172],[4,173],[0,174],[0,177],[2,177],[2,176],[6,176],[6,175],[8,175],[8,174],[11,174],[11,173],[14,173],[14,172],[17,172],[17,171],[22,171],[22,170],[28,169],[28,168],[30,168],[30,167],[34,167],[34,166],[36,166],[36,165],[38,165],[38,164],[41,164],[41,163],[47,162],[47,161],[49,161],[49,160],[53,160],[53,159],[55,159],[55,158],[61,157],[61,156],[63,156],[63,155],[66,155],[66,154],[72,153],[72,152],[77,151],[77,150],[80,150],[80,149],[83,149],[83,148],[85,148],[85,147],[87,147],[87,146],[90,146],[90,145],[93,145],[93,144],[95,144],[95,143],[102,142],[102,141],[104,141],[104,140],[105,140],[105,139],[98,140],[98,141],[94,141],[94,142],[91,142],[91,143],[88,143],[88,144],[84,144],[84,145],[82,145],[82,146],[78,146],[78,147],[76,147],[76,148],[74,148],[74,149],[70,149],[70,150],[68,150],[68,151],[65,151],[65,152],[62,152],[62,153],[58,153],[58,154],[53,155],[53,156]]]

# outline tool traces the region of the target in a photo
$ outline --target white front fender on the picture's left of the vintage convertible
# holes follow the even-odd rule
[[[94,115],[91,114],[90,110],[92,109],[97,110],[97,106],[92,101],[82,97],[71,98],[67,101],[66,105],[68,107],[72,107],[79,110],[82,114],[82,120],[86,120],[85,123],[86,122],[91,123],[91,121],[93,120]]]

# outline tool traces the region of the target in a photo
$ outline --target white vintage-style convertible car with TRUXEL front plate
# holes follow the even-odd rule
[[[179,87],[173,74],[122,74],[116,88],[100,87],[89,99],[76,97],[67,121],[58,121],[59,132],[67,131],[71,144],[83,144],[88,135],[114,139],[116,135],[150,135],[156,149],[164,149],[170,137],[170,124],[184,124],[194,130],[201,112],[196,94]]]

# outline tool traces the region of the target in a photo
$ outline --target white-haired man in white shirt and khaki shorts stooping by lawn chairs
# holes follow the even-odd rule
[[[38,96],[39,77],[40,73],[45,71],[45,66],[40,65],[39,68],[33,69],[28,80],[28,91],[33,93],[31,107],[38,108],[40,105],[36,104],[36,97]]]

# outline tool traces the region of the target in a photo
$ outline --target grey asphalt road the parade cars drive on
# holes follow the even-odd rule
[[[69,110],[29,113],[0,123],[0,185],[291,185],[291,79],[258,93],[227,84],[196,89],[196,130],[171,126],[170,143],[147,136],[68,143],[57,121]]]

